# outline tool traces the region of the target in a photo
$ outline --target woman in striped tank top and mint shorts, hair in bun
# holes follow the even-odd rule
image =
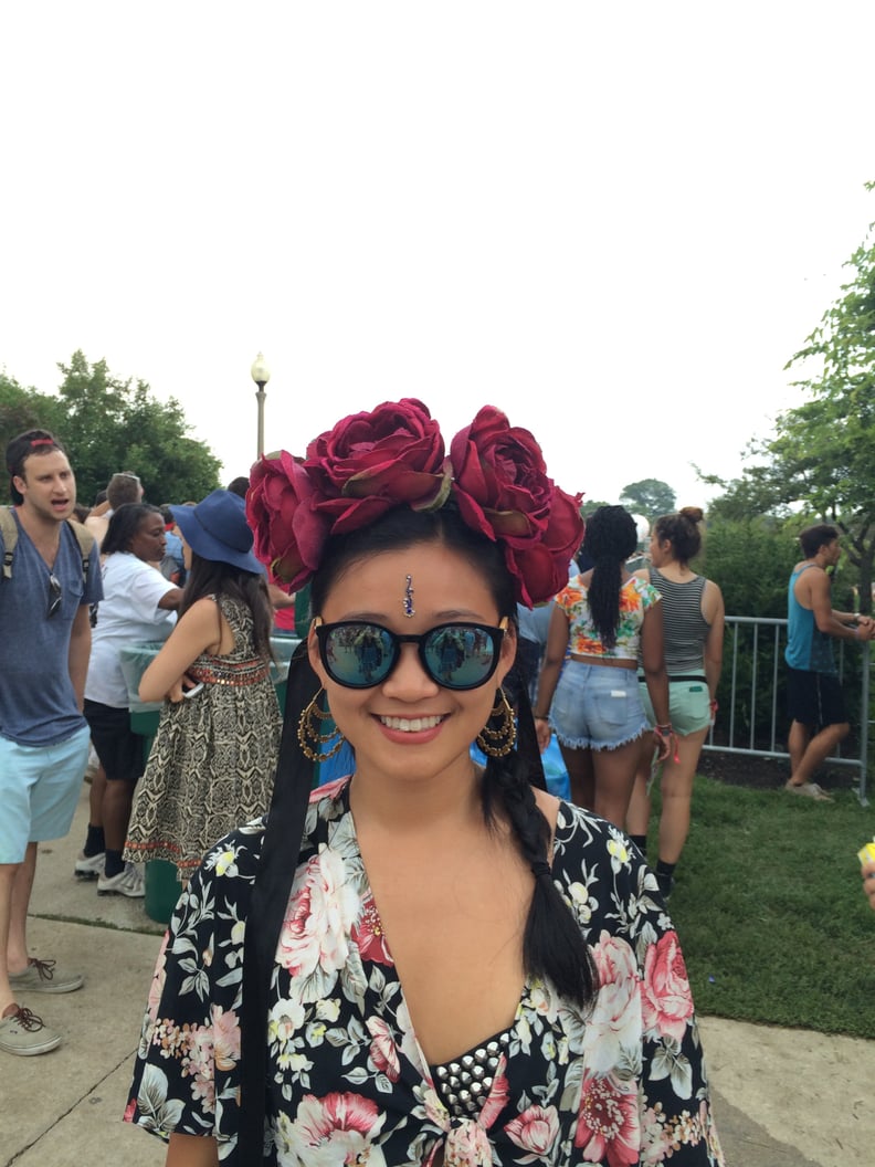
[[[677,753],[663,763],[660,781],[663,810],[656,875],[666,897],[674,886],[674,867],[690,832],[693,778],[716,710],[714,698],[723,656],[723,596],[716,584],[696,575],[690,566],[701,548],[701,519],[698,506],[685,506],[678,515],[658,518],[650,538],[651,566],[637,573],[663,598],[670,712],[678,735]],[[640,691],[653,725],[646,686],[642,684]],[[626,817],[630,838],[642,852],[646,851],[650,822],[648,787],[652,756],[653,736],[646,734]]]

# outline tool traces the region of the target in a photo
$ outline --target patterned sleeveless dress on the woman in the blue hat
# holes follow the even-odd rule
[[[125,847],[134,862],[176,864],[181,881],[217,839],[266,812],[279,754],[282,718],[268,664],[256,655],[252,615],[229,596],[217,602],[233,650],[202,654],[188,671],[204,687],[164,701]]]

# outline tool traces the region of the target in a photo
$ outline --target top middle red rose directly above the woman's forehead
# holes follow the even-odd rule
[[[400,503],[440,506],[449,491],[438,422],[412,397],[338,421],[307,447],[304,467],[331,534],[357,531]]]

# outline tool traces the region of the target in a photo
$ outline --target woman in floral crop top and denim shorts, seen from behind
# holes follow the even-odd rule
[[[650,729],[638,696],[639,650],[659,722],[659,756],[673,746],[659,593],[625,568],[637,538],[635,519],[622,506],[601,506],[587,523],[583,550],[595,566],[556,596],[534,714],[541,749],[555,729],[574,802],[620,827],[639,739]]]

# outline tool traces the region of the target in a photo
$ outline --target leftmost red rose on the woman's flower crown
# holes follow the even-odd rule
[[[262,456],[250,475],[246,517],[256,555],[271,574],[302,587],[318,567],[329,520],[314,508],[313,482],[301,459],[282,450]]]

